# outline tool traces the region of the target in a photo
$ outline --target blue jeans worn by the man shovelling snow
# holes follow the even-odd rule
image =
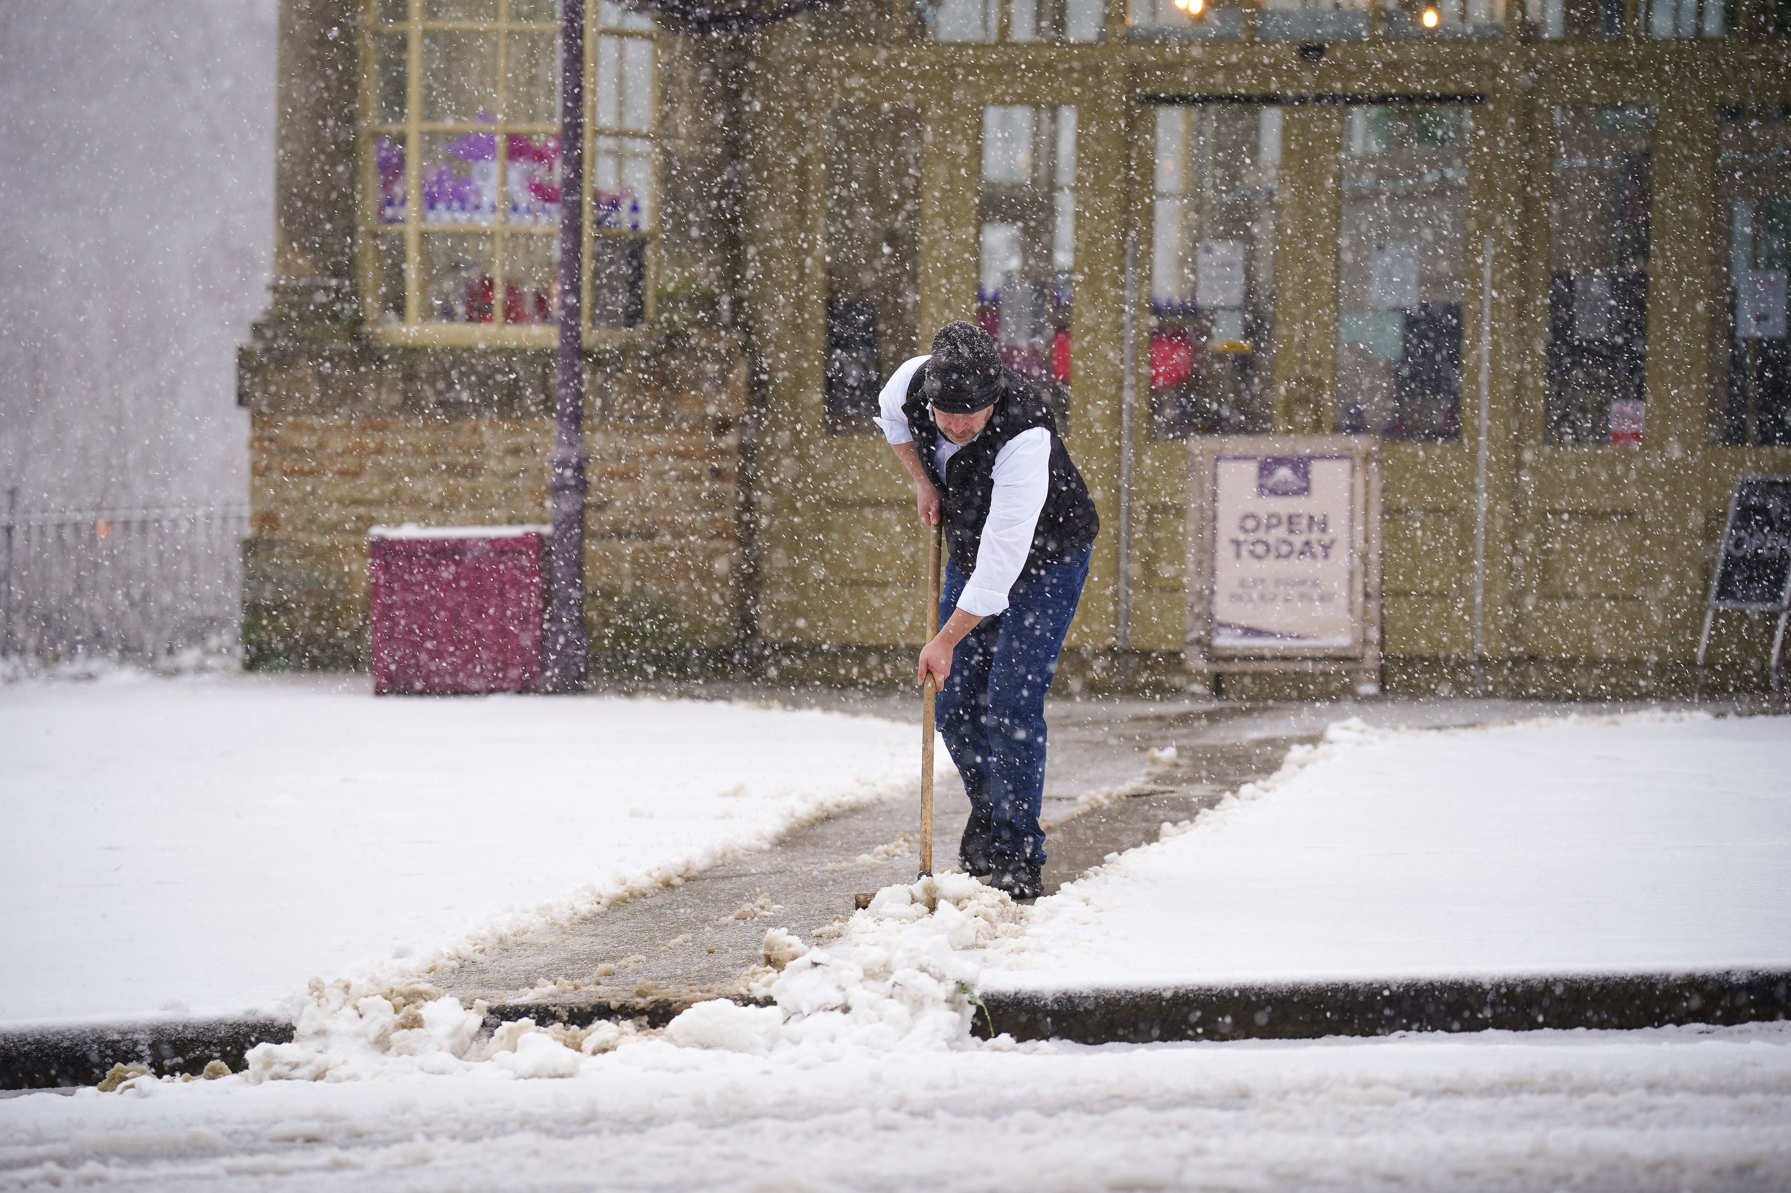
[[[938,732],[971,800],[969,832],[989,833],[996,873],[1044,866],[1044,692],[1087,578],[1087,549],[1060,563],[1026,567],[1007,610],[958,642],[938,692]],[[967,580],[946,562],[940,624],[958,608]]]

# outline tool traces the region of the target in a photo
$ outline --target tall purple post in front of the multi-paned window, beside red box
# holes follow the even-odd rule
[[[562,0],[561,23],[561,306],[553,376],[553,449],[548,492],[553,551],[548,560],[548,619],[541,687],[586,685],[584,626],[584,0]]]

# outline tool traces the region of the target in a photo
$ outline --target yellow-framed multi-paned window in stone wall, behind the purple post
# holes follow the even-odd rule
[[[369,318],[414,329],[552,324],[562,202],[555,2],[369,0],[367,14]],[[647,317],[654,25],[607,0],[589,20],[586,318],[627,329]]]

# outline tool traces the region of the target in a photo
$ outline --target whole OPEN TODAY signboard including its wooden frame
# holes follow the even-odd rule
[[[1191,444],[1187,664],[1347,671],[1379,687],[1377,444],[1358,435]]]

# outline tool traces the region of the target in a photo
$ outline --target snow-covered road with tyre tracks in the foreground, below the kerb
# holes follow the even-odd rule
[[[1791,1188],[1791,1030],[743,1057],[0,1102],[0,1189]]]

